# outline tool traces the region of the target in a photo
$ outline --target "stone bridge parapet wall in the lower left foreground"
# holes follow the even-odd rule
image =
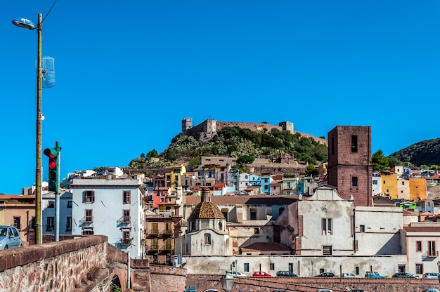
[[[105,268],[107,246],[93,236],[0,251],[0,291],[75,291]]]

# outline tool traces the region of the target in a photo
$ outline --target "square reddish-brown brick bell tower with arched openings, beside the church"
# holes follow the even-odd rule
[[[328,185],[355,206],[373,206],[371,127],[336,126],[328,132]]]

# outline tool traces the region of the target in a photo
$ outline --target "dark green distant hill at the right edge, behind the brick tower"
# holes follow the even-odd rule
[[[440,138],[415,143],[394,152],[389,157],[395,157],[402,162],[410,162],[415,166],[440,165]]]

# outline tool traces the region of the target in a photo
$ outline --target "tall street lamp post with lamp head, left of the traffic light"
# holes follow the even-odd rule
[[[43,69],[41,68],[41,13],[38,15],[37,27],[27,19],[20,18],[13,20],[13,25],[27,29],[37,29],[37,166],[35,168],[35,244],[41,244],[41,79]]]

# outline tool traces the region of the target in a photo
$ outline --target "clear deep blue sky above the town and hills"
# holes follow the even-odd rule
[[[34,184],[37,23],[53,0],[0,6],[0,193]],[[373,153],[438,138],[439,1],[66,1],[43,22],[57,85],[42,149],[62,171],[127,166],[193,124],[371,126]],[[43,156],[44,180],[47,158]]]

